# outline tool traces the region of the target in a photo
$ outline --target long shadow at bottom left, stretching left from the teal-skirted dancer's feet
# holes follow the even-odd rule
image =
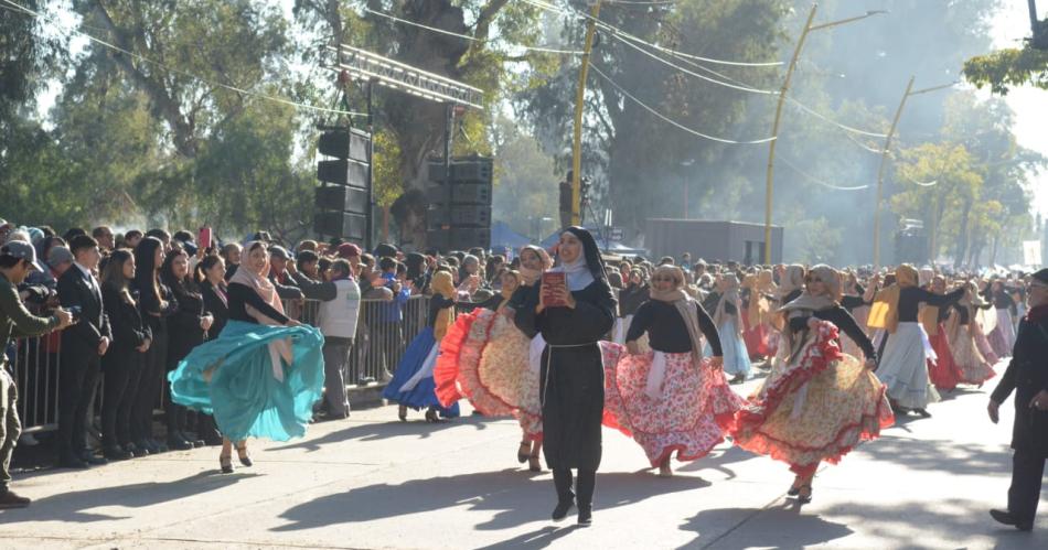
[[[122,506],[125,508],[145,508],[183,498],[192,498],[202,493],[228,487],[246,477],[257,474],[222,475],[216,472],[201,472],[189,477],[165,483],[136,483],[118,487],[61,493],[34,500],[32,506],[18,510],[4,510],[0,514],[0,524],[33,521],[110,521],[127,519],[129,516],[109,516],[84,510],[99,506]]]

